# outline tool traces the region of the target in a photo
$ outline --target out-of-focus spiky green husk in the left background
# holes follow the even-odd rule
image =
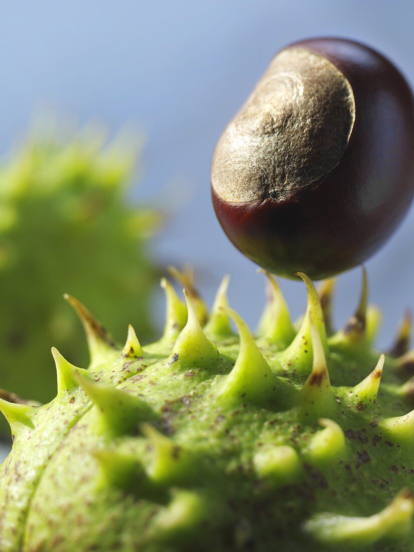
[[[157,270],[148,231],[160,214],[126,198],[136,148],[87,130],[29,139],[0,168],[0,381],[39,401],[56,391],[50,343],[87,362],[70,291],[122,335],[125,313],[152,335],[148,301]],[[131,300],[132,298],[132,300]],[[34,369],[36,367],[36,369]],[[0,428],[7,431],[3,421]]]

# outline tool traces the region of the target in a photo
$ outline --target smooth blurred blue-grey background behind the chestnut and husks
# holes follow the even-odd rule
[[[209,301],[229,272],[231,304],[254,325],[263,277],[227,241],[210,203],[210,158],[220,132],[273,54],[307,36],[365,41],[414,83],[413,16],[411,0],[4,2],[0,150],[45,106],[81,124],[106,121],[114,131],[133,121],[146,145],[132,197],[154,198],[175,211],[156,242],[158,262],[194,263]],[[367,265],[371,300],[386,312],[379,339],[384,347],[402,311],[414,306],[413,232],[411,210]],[[359,283],[359,270],[339,279],[337,323],[351,314]],[[304,286],[282,286],[298,315]],[[156,308],[160,319],[161,298]]]

